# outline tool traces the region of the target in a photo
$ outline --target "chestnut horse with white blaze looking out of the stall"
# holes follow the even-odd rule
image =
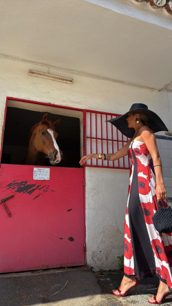
[[[41,121],[31,128],[26,165],[45,165],[45,158],[48,159],[50,165],[60,163],[63,154],[56,143],[58,134],[55,130],[55,126],[60,121],[61,119],[54,122],[48,121],[47,114],[44,114]]]

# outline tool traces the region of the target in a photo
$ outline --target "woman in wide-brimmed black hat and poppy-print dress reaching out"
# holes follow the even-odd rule
[[[158,210],[157,201],[161,200],[161,205],[167,206],[162,164],[153,132],[168,129],[160,117],[142,103],[133,104],[129,112],[109,122],[131,139],[114,154],[83,156],[80,165],[92,158],[116,161],[129,154],[131,159],[125,216],[124,277],[113,294],[126,296],[131,287],[137,288],[140,280],[157,275],[160,279],[157,295],[148,301],[161,304],[166,296],[172,294],[172,234],[161,234],[153,227],[152,216]]]

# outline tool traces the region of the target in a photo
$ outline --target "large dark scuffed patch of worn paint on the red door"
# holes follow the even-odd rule
[[[35,198],[38,198],[39,196],[42,196],[43,194],[45,194],[45,192],[48,192],[48,191],[54,192],[54,190],[50,189],[50,185],[30,184],[28,183],[28,181],[12,181],[8,185],[6,185],[6,188],[8,190],[14,190],[15,192],[19,192],[23,194],[31,195],[34,193],[33,200],[35,200]]]

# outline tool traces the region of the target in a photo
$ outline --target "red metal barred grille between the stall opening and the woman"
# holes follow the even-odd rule
[[[114,153],[120,150],[128,142],[129,139],[122,135],[114,125],[106,122],[107,120],[116,118],[118,116],[120,115],[89,110],[84,112],[85,154]],[[87,161],[87,166],[129,169],[129,158],[128,156],[125,156],[118,161],[102,161],[99,159],[90,159]]]

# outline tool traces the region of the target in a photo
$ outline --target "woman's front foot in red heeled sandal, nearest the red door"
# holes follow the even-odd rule
[[[112,293],[114,294],[114,296],[125,296],[127,295],[129,289],[137,285],[138,285],[137,278],[128,278],[124,276],[122,278],[122,282],[120,283],[120,287],[118,287],[118,289],[112,290]]]

